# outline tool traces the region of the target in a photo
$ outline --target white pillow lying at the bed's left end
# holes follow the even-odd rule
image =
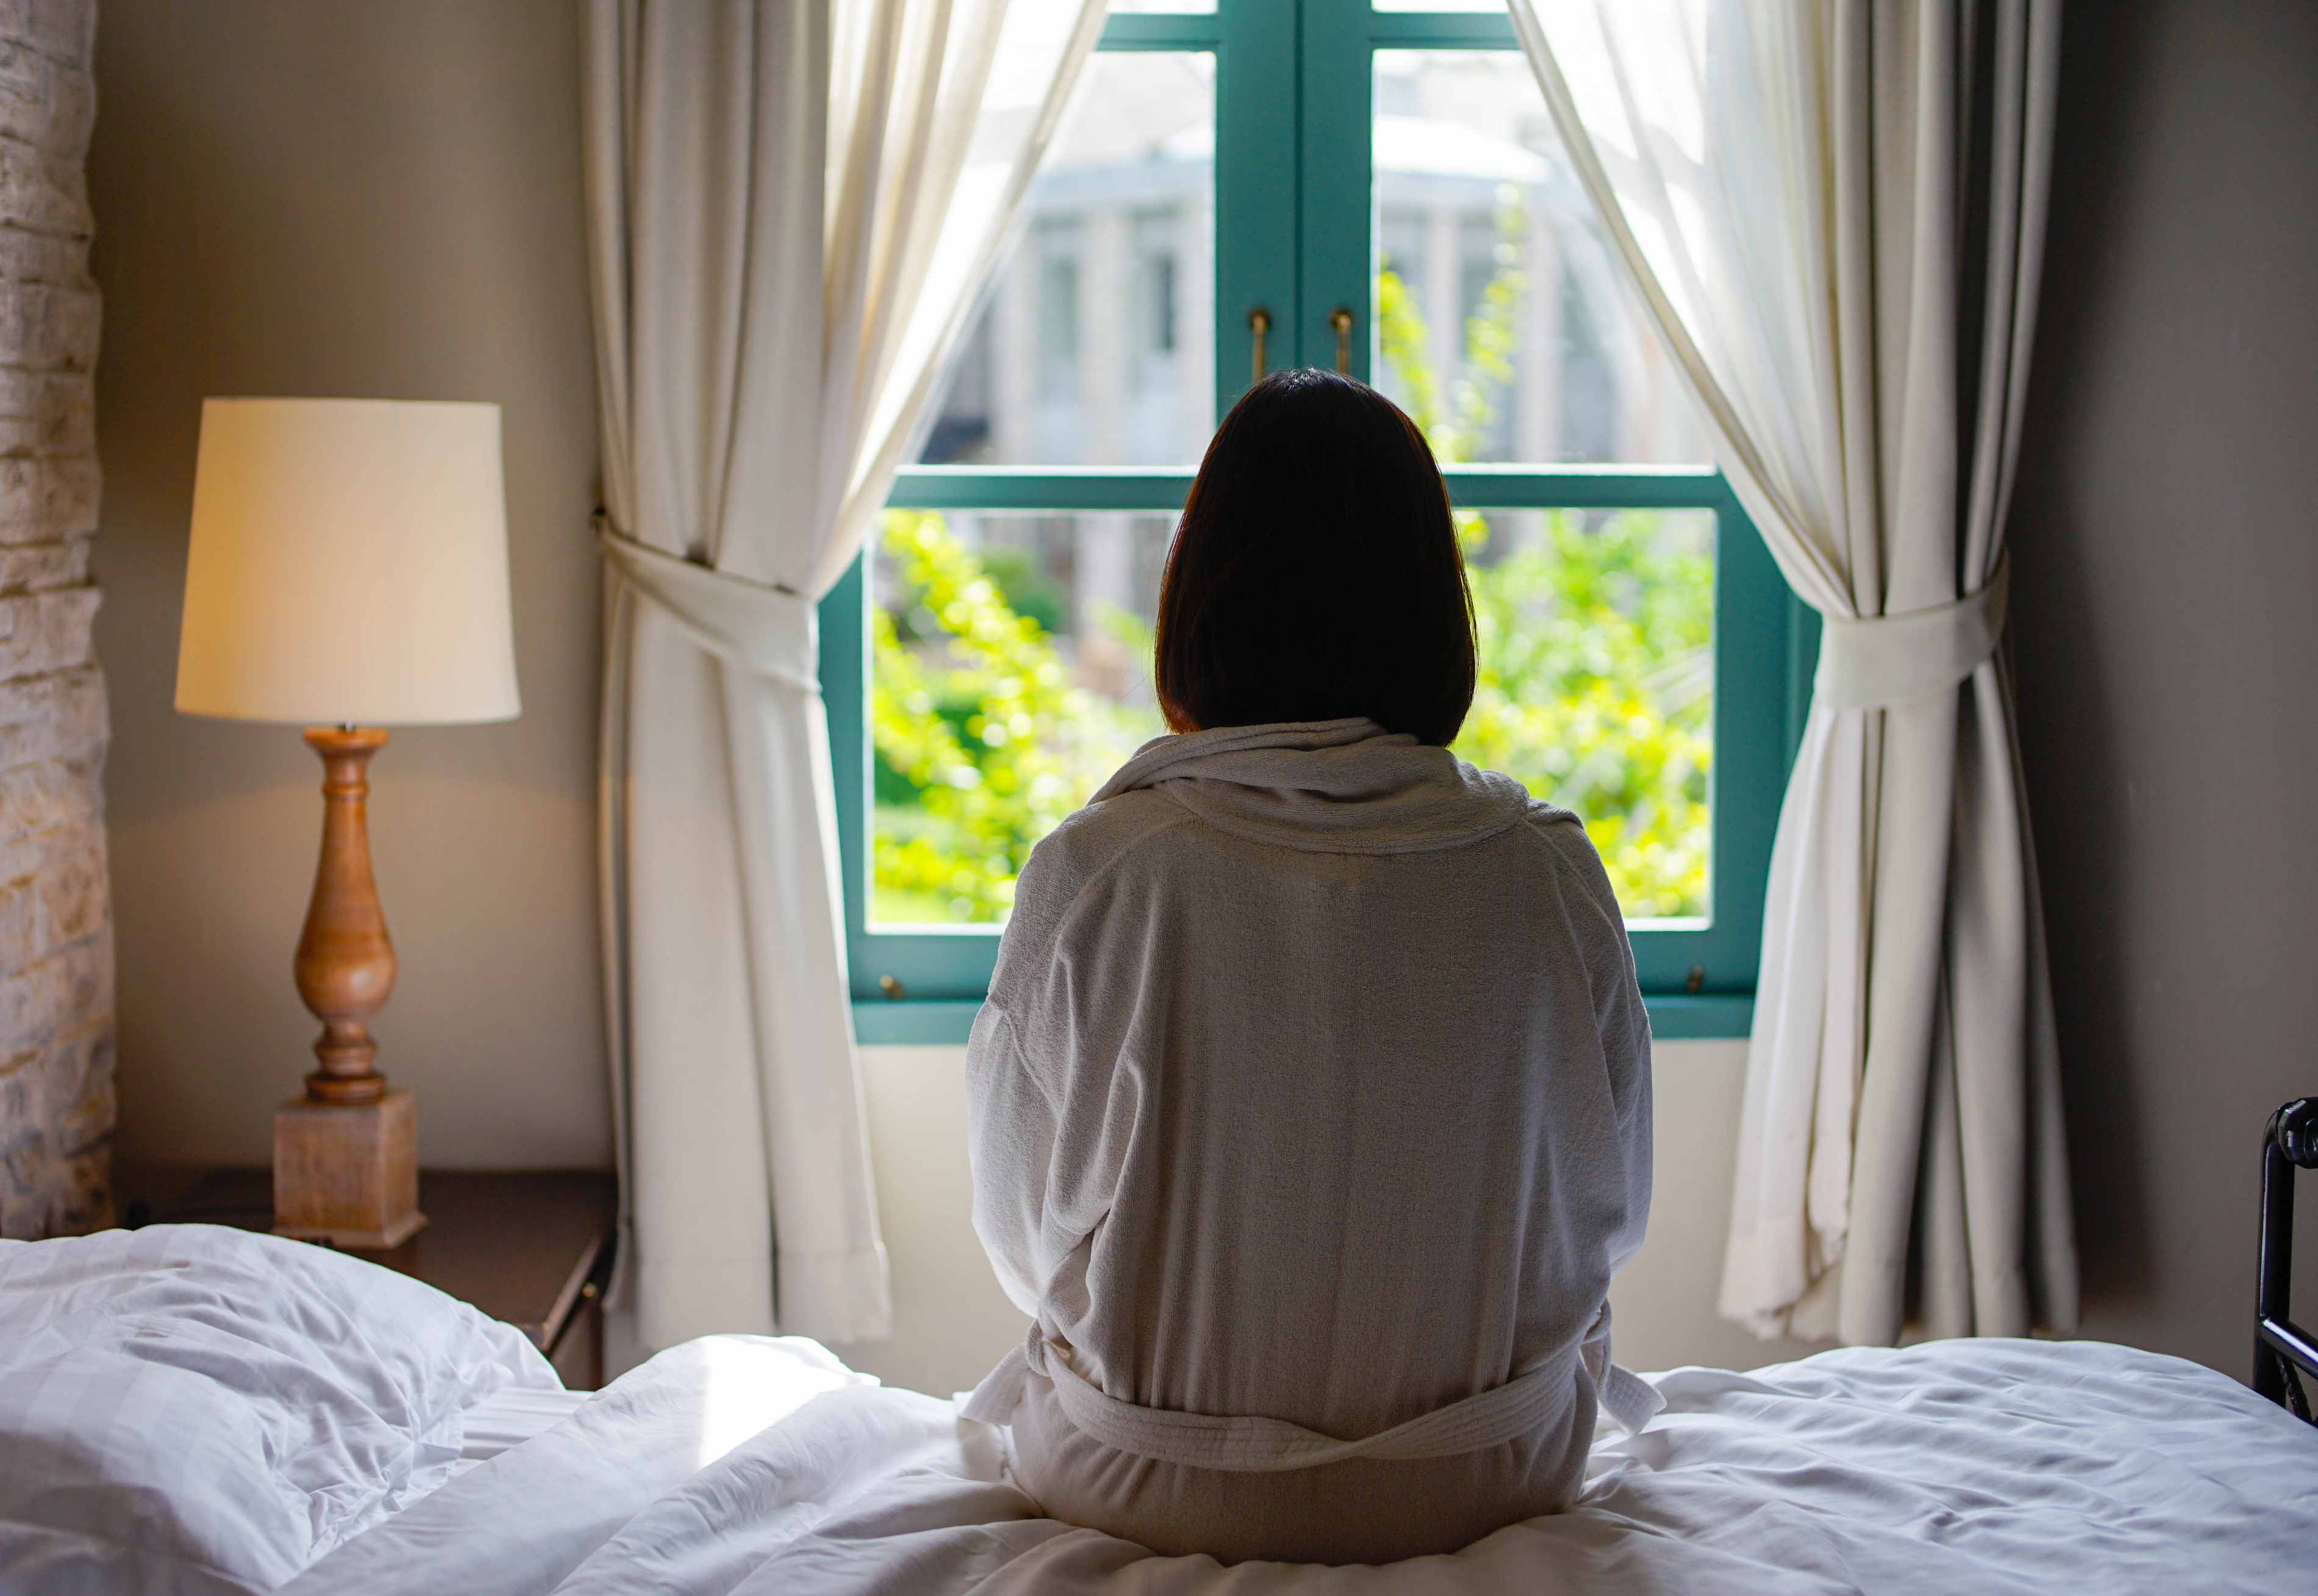
[[[0,1589],[271,1591],[447,1480],[517,1330],[223,1225],[0,1242]]]

